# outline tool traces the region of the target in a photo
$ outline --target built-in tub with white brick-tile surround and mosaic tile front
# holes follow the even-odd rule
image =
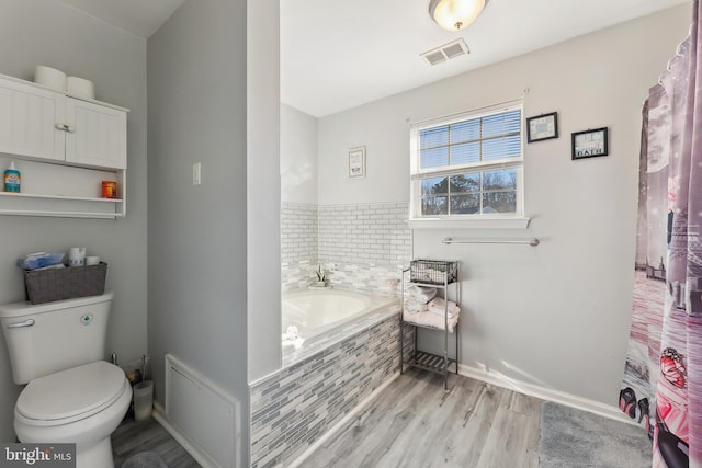
[[[282,332],[295,324],[305,341],[297,350],[283,345],[283,368],[250,386],[252,467],[297,458],[399,370],[398,281],[411,259],[408,209],[407,202],[282,204],[283,309],[291,303],[285,305],[286,294],[310,299],[307,287],[319,264],[332,292],[374,299],[336,324],[315,311],[316,330],[284,312]],[[354,293],[343,292],[349,289]],[[346,313],[337,306],[330,311],[335,320]],[[411,346],[414,335],[405,342]]]

